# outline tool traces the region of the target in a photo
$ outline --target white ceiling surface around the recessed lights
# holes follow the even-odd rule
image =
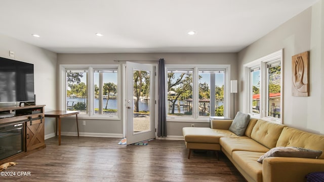
[[[55,53],[238,52],[317,1],[1,0],[0,33]]]

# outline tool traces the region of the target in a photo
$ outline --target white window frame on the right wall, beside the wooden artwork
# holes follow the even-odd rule
[[[280,71],[280,118],[274,118],[274,117],[269,117],[267,116],[268,113],[268,109],[267,109],[267,64],[270,63],[275,63],[275,62],[279,62],[281,65],[281,71]],[[282,123],[282,116],[284,113],[283,111],[283,101],[284,101],[284,92],[283,92],[283,86],[284,85],[284,79],[282,77],[283,72],[284,72],[284,67],[283,67],[283,49],[278,50],[274,53],[271,53],[267,56],[261,57],[255,61],[252,61],[250,63],[247,63],[244,65],[245,67],[245,80],[247,80],[245,82],[244,85],[244,90],[245,90],[245,112],[246,113],[250,113],[250,115],[253,118],[261,118],[267,121],[271,121],[274,123]],[[251,83],[251,68],[255,68],[255,67],[260,67],[260,113],[253,113],[252,112],[252,91],[251,91],[251,87],[252,87],[252,83]]]

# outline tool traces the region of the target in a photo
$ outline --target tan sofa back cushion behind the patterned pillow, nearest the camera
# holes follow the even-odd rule
[[[323,151],[319,159],[324,159],[324,135],[313,134],[292,127],[285,127],[278,139],[276,147],[301,147]]]

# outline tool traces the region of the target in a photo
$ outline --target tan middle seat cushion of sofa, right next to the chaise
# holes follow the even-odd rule
[[[250,138],[221,138],[220,145],[229,155],[234,151],[268,152],[269,149]]]

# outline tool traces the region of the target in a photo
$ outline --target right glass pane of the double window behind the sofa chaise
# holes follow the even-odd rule
[[[199,117],[224,116],[224,70],[204,70],[198,73]]]

